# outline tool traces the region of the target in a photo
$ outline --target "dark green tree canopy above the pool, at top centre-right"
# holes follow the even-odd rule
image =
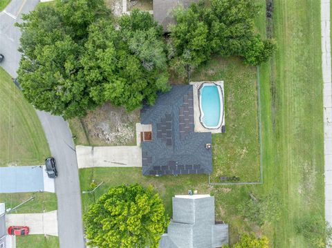
[[[172,66],[192,70],[212,53],[240,56],[252,66],[266,61],[275,44],[256,34],[257,9],[255,1],[247,0],[201,1],[187,9],[176,8],[176,24],[170,27]]]

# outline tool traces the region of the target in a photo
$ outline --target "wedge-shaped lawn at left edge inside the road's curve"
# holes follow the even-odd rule
[[[28,104],[0,68],[0,166],[44,164],[50,155],[42,125]]]

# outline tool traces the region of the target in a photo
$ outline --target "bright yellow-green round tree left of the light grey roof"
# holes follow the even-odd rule
[[[158,247],[169,224],[158,193],[139,184],[113,187],[84,216],[91,247]]]

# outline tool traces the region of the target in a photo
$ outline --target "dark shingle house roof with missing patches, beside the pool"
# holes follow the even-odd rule
[[[143,175],[212,173],[211,133],[194,133],[192,85],[173,86],[141,111],[152,140],[142,142]]]

